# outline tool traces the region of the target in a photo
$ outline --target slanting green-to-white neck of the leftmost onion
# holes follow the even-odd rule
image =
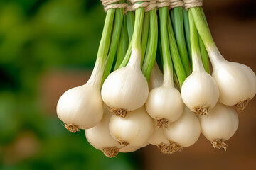
[[[92,70],[92,74],[87,83],[92,84],[100,88],[102,76],[105,69],[105,62],[107,60],[107,52],[110,47],[110,37],[112,32],[112,26],[114,21],[115,9],[109,9],[105,18],[105,23],[102,31],[102,38],[100,40],[99,50],[97,52],[97,60],[95,67]]]

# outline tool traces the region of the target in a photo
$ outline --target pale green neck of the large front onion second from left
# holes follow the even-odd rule
[[[135,11],[134,33],[132,34],[132,54],[127,67],[141,67],[141,37],[144,18],[144,8],[137,8]]]

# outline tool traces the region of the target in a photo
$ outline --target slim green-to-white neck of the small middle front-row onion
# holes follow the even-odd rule
[[[174,72],[171,62],[171,53],[169,48],[169,38],[167,32],[168,7],[159,8],[161,51],[163,55],[164,81],[163,86],[174,87]]]

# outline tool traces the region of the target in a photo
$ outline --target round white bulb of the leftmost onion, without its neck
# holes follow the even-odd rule
[[[78,86],[60,97],[57,115],[65,124],[88,129],[97,125],[103,115],[103,101],[100,90],[92,84]]]

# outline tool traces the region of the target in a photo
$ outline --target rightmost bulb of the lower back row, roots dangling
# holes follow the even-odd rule
[[[235,108],[217,103],[208,116],[199,116],[201,132],[213,143],[213,147],[226,150],[224,141],[230,139],[238,129],[238,114]]]

